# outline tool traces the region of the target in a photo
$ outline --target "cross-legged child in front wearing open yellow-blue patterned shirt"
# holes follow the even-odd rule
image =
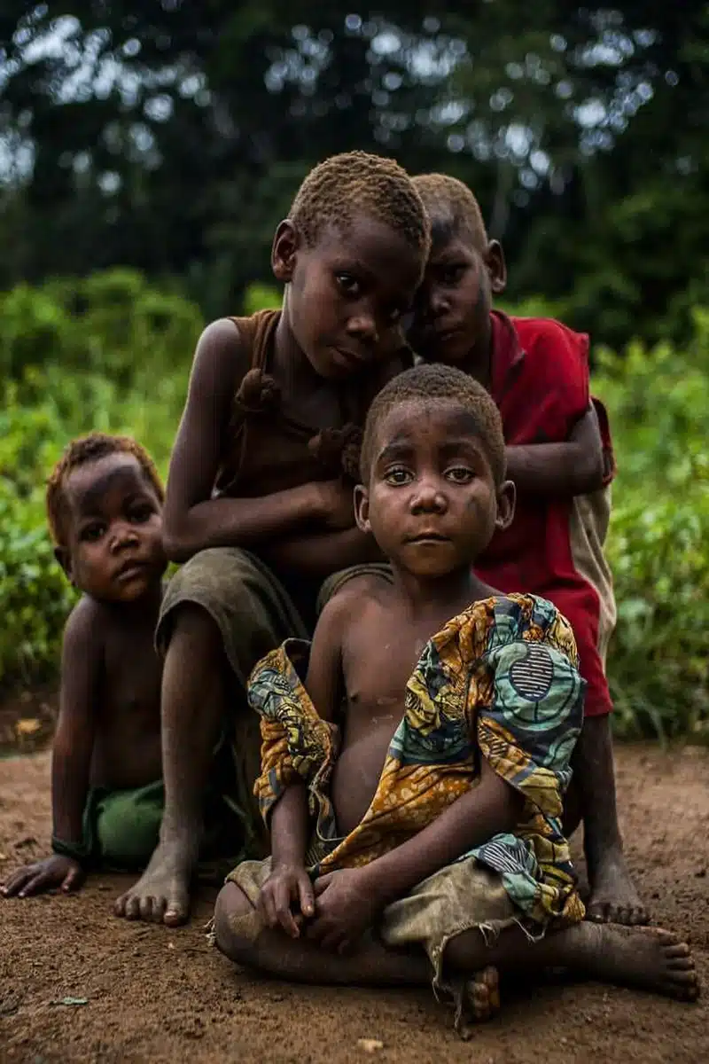
[[[494,1010],[499,968],[693,999],[675,936],[581,922],[560,819],[583,722],[573,634],[472,569],[513,513],[492,399],[449,367],[402,373],[370,410],[361,479],[357,522],[391,578],[331,599],[309,663],[289,641],[252,674],[273,855],[230,875],[217,946],[296,980],[433,978],[458,1026]]]

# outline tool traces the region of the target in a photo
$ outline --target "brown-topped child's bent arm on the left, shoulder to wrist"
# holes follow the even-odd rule
[[[239,547],[284,535],[321,516],[317,484],[255,499],[213,499],[232,404],[249,369],[233,321],[215,321],[197,345],[165,500],[165,548],[184,562],[207,547]]]

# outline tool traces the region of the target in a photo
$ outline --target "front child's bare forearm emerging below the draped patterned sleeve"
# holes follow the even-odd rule
[[[519,824],[522,796],[483,759],[480,781],[412,838],[361,869],[377,903],[402,898],[417,883]]]

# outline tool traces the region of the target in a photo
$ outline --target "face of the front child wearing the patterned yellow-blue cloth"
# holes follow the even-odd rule
[[[382,418],[357,522],[400,569],[420,578],[468,569],[514,510],[495,486],[472,415],[451,400],[404,402]]]

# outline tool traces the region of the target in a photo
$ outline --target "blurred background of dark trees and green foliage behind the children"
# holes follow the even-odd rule
[[[75,0],[0,11],[0,691],[54,682],[72,436],[167,469],[205,320],[277,305],[273,229],[361,148],[444,170],[506,309],[590,332],[619,478],[617,728],[709,721],[709,4]]]

